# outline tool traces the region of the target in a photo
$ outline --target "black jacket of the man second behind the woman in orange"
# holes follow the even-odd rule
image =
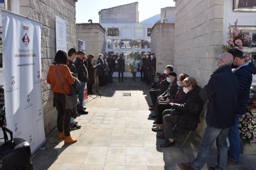
[[[78,80],[85,83],[88,81],[88,71],[84,66],[83,60],[79,59],[78,57],[76,58],[76,73]]]

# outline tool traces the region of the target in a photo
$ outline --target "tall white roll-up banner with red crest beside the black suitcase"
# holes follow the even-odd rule
[[[36,20],[2,10],[4,102],[13,138],[31,152],[45,143],[41,79],[41,28]]]

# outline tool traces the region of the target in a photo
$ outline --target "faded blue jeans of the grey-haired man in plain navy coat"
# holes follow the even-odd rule
[[[216,139],[216,146],[218,150],[218,166],[216,169],[225,170],[227,167],[227,155],[228,155],[228,148],[227,148],[227,135],[228,129],[218,129],[215,127],[211,127],[209,125],[206,126],[204,136],[200,143],[200,149],[197,153],[196,159],[191,163],[191,167],[193,169],[202,169],[204,167],[207,157],[211,151],[211,146]]]

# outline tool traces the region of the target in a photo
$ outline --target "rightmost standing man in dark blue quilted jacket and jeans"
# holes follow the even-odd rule
[[[252,74],[256,74],[256,68],[252,62],[244,62],[243,52],[237,48],[228,51],[234,57],[234,62],[232,63],[233,73],[236,75],[239,81],[239,94],[236,108],[236,118],[235,124],[229,128],[228,140],[230,143],[228,164],[239,163],[239,155],[241,150],[240,136],[238,132],[239,118],[246,112],[246,107],[248,104],[250,96],[250,87],[252,84]]]

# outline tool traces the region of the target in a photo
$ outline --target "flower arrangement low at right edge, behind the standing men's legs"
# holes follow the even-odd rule
[[[256,96],[250,98],[245,115],[243,115],[238,124],[240,138],[244,145],[256,143]]]

